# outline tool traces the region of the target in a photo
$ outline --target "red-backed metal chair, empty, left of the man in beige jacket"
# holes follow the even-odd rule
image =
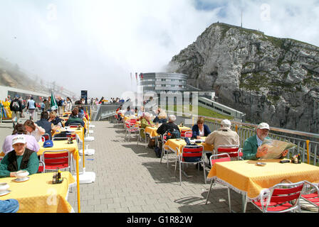
[[[204,147],[202,145],[185,145],[182,148],[182,153],[179,153],[178,148],[175,160],[175,172],[177,167],[177,161],[179,162],[179,184],[182,186],[182,164],[183,163],[204,163]],[[204,172],[204,182],[206,184],[206,172],[205,166],[203,167]]]

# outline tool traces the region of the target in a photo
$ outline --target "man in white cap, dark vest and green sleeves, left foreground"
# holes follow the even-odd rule
[[[0,177],[16,177],[16,172],[26,170],[30,175],[38,172],[38,155],[26,148],[24,135],[12,139],[14,150],[6,154],[0,163]]]

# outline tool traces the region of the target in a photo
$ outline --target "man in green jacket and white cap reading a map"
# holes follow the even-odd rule
[[[244,160],[258,160],[267,154],[267,148],[259,148],[263,140],[270,139],[268,137],[269,125],[268,123],[260,123],[256,128],[256,135],[253,135],[247,138],[244,142],[243,148],[243,158]],[[283,158],[287,155],[288,150],[284,150],[281,153],[281,157]]]

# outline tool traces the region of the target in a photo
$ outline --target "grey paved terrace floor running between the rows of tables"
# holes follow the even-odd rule
[[[24,122],[24,121],[23,121]],[[203,172],[189,165],[179,186],[178,168],[174,176],[172,156],[167,170],[166,162],[154,150],[137,145],[137,139],[124,140],[122,125],[109,121],[92,122],[95,140],[86,142],[95,149],[95,155],[85,156],[87,172],[95,172],[95,182],[80,184],[80,211],[82,213],[224,213],[229,212],[227,189],[220,184],[213,187],[209,203],[205,205],[210,182],[204,184]],[[0,141],[12,133],[12,123],[0,125]],[[83,157],[81,157],[83,158]],[[166,160],[165,160],[166,161]],[[83,163],[80,162],[80,167]],[[80,169],[80,172],[82,169]],[[206,175],[209,169],[207,169]],[[76,187],[68,201],[78,211]],[[231,191],[232,209],[241,212],[241,195]],[[259,213],[251,204],[247,213]],[[304,211],[309,212],[309,211]]]

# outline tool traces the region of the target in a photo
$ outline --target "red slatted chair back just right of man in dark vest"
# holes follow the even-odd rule
[[[46,150],[42,160],[44,170],[68,169],[70,171],[70,153],[68,150]]]

